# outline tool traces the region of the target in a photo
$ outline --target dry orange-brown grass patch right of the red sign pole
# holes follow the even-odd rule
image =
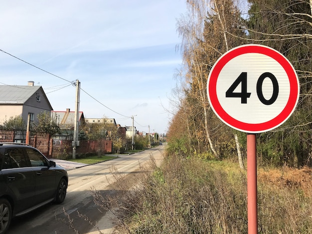
[[[262,233],[312,233],[311,169],[260,169],[258,190]]]

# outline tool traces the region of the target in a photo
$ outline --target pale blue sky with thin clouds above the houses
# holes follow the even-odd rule
[[[184,0],[2,0],[0,85],[33,81],[74,111],[79,80],[85,118],[166,133],[185,12]]]

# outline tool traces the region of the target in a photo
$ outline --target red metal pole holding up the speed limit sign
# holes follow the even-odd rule
[[[256,134],[247,133],[248,234],[258,234]]]

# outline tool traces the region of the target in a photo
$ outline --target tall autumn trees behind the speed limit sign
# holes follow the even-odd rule
[[[212,112],[208,74],[216,60],[242,44],[268,45],[293,64],[300,99],[291,118],[258,134],[259,163],[312,166],[312,8],[309,0],[187,0],[178,20],[183,64],[173,91],[175,112],[168,130],[170,152],[216,159],[246,157],[246,134],[230,129]],[[238,141],[235,141],[238,139]],[[239,155],[241,152],[241,156]]]

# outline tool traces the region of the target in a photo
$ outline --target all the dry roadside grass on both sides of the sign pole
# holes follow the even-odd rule
[[[123,192],[102,204],[119,207],[116,233],[248,233],[246,172],[236,163],[168,157],[151,169],[131,183],[116,176]],[[258,204],[259,234],[312,234],[312,170],[259,169]]]

